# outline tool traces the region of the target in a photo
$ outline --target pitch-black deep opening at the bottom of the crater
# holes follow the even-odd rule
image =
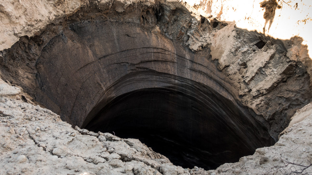
[[[248,115],[212,89],[145,88],[115,97],[84,128],[139,139],[174,165],[209,170],[274,144]]]

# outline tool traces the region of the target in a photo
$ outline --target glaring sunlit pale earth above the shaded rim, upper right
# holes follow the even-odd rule
[[[239,28],[263,32],[265,23],[263,13],[265,10],[260,7],[260,3],[263,0],[184,1],[188,2],[190,5],[201,5],[202,8],[199,9],[199,12],[202,15],[204,15],[204,13],[206,15],[211,14],[224,21],[236,21],[236,26]],[[297,8],[296,2],[298,3]],[[304,39],[303,45],[308,45],[308,49],[312,48],[312,0],[280,0],[278,4],[282,8],[276,9],[274,21],[267,34],[282,40],[289,40],[291,37],[298,35]],[[268,25],[269,23],[266,28]],[[309,53],[309,55],[312,55],[312,51],[309,51]]]

